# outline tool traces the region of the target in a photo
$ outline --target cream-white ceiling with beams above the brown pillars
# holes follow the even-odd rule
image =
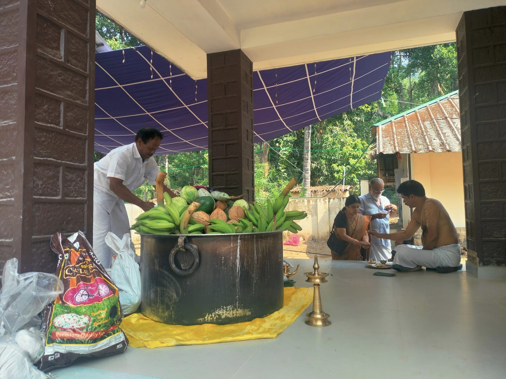
[[[243,30],[230,16],[242,25],[248,24],[245,17],[251,17],[250,25],[262,25],[269,7],[279,11],[279,4],[290,7],[290,1],[271,6],[265,0],[237,0],[243,7],[237,8],[228,0],[147,0],[140,9],[139,0],[97,0],[97,8],[200,79],[207,76],[208,53],[242,49],[260,70],[408,49],[454,41],[462,12],[506,5],[506,0],[363,0],[358,8],[336,0],[322,3],[334,11],[327,14],[317,0],[307,3],[307,13],[298,1],[293,15],[284,14],[288,21]]]

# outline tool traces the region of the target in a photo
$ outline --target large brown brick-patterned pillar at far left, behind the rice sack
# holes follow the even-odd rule
[[[93,222],[95,0],[0,2],[0,270]],[[90,201],[88,201],[90,199]]]

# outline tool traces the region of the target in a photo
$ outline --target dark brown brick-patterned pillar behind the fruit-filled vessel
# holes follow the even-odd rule
[[[209,186],[255,200],[253,65],[241,50],[207,54]]]

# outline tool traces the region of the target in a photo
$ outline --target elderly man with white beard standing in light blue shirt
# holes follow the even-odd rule
[[[360,196],[359,212],[365,216],[375,216],[371,220],[371,228],[381,230],[380,233],[390,233],[389,220],[397,212],[397,207],[390,204],[385,192],[385,183],[380,178],[371,179],[369,182],[369,193]],[[371,259],[376,262],[389,260],[392,258],[392,248],[390,240],[378,239],[372,237],[371,241]]]

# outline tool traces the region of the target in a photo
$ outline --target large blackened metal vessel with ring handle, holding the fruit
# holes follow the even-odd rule
[[[283,305],[282,232],[141,234],[142,313],[178,325],[229,324]]]

